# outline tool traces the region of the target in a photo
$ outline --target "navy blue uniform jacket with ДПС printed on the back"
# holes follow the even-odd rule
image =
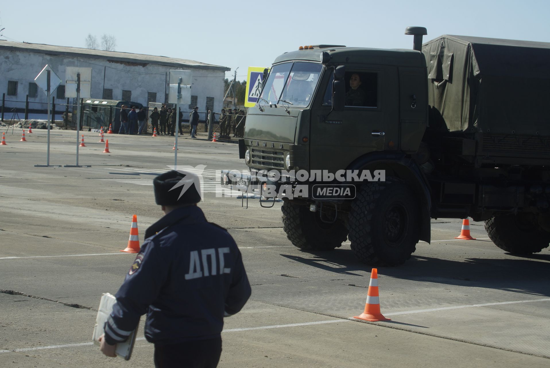
[[[239,312],[251,292],[233,237],[192,205],[166,214],[145,238],[116,294],[106,342],[126,340],[145,313],[152,343],[219,337],[223,317]]]

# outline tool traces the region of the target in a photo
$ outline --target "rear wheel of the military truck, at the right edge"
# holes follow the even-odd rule
[[[516,255],[538,253],[550,243],[550,232],[542,230],[532,214],[494,216],[485,221],[485,230],[497,247]]]

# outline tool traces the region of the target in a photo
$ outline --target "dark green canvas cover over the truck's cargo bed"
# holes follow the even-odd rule
[[[550,43],[443,35],[422,45],[430,125],[550,136]]]

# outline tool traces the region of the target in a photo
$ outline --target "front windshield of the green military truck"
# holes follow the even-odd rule
[[[260,98],[273,105],[290,102],[293,106],[307,106],[322,68],[321,64],[298,61],[278,64],[271,69]]]

